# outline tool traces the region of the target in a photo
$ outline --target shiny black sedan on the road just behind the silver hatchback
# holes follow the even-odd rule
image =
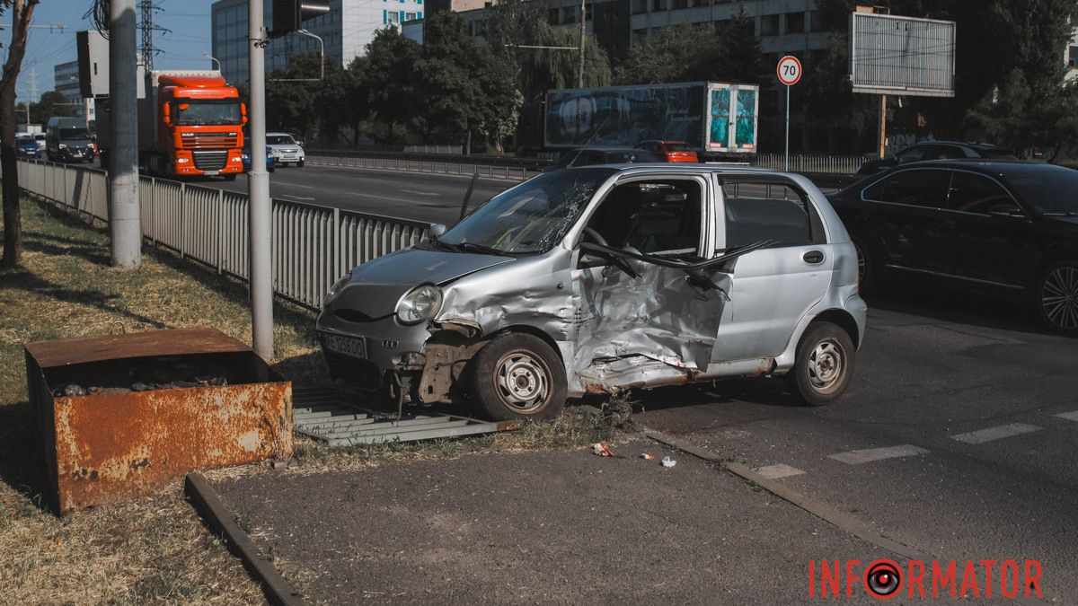
[[[1078,171],[1049,164],[906,164],[831,196],[866,290],[897,279],[1027,302],[1078,336]]]

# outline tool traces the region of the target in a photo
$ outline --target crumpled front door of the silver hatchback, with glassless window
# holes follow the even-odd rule
[[[636,178],[614,187],[586,218],[583,242],[649,256],[699,261],[710,246],[709,188],[702,176]],[[595,237],[602,242],[598,242]],[[573,272],[580,293],[576,360],[640,356],[707,368],[723,316],[729,277],[709,284],[679,268],[581,252]]]

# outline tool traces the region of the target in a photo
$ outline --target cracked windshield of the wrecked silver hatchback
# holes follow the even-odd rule
[[[565,237],[595,190],[614,173],[610,168],[544,173],[494,196],[438,242],[462,250],[545,252]]]

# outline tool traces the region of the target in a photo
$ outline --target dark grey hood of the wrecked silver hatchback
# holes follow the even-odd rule
[[[368,318],[392,315],[397,302],[413,288],[443,285],[513,261],[511,257],[410,248],[373,259],[351,271],[351,278],[327,309],[349,309]]]

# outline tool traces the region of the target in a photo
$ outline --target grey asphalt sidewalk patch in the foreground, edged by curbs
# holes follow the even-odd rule
[[[810,560],[890,556],[657,442],[614,452],[625,458],[476,454],[217,490],[315,603],[794,604]]]

